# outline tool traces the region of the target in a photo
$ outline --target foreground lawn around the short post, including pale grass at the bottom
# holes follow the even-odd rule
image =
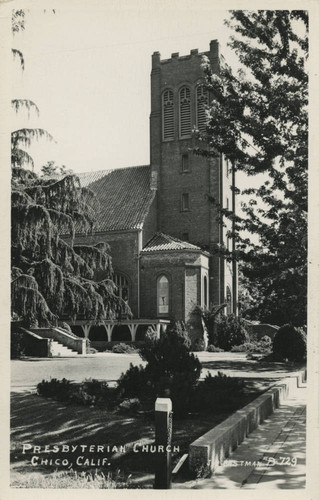
[[[248,404],[266,390],[274,380],[246,379],[246,391],[240,407]],[[188,418],[173,419],[172,445],[179,448],[173,454],[173,466],[188,452],[189,444],[218,425],[230,413],[193,414]],[[11,464],[12,486],[25,488],[130,488],[137,485],[151,488],[154,480],[155,455],[151,452],[134,452],[136,442],[153,444],[155,424],[152,415],[128,413],[122,415],[106,409],[76,406],[41,398],[35,394],[12,393],[11,405]],[[63,444],[125,445],[125,452],[108,453],[107,467],[87,465],[76,467],[76,453],[40,454],[46,458],[65,458],[73,471],[66,468],[54,471],[54,466],[32,466],[31,450],[23,454],[23,444],[41,446]],[[85,458],[98,459],[104,454],[81,453]],[[90,462],[91,464],[91,462]],[[110,465],[109,465],[110,464]],[[56,467],[55,467],[56,468]],[[129,484],[117,476],[131,475]],[[115,482],[112,482],[115,481]],[[43,484],[43,486],[41,486]],[[63,484],[64,486],[56,486]],[[124,486],[124,484],[126,486]],[[51,485],[51,486],[50,486]],[[122,486],[121,486],[122,485]]]

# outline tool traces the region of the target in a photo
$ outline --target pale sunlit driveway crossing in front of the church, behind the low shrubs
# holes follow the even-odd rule
[[[231,377],[274,379],[293,376],[296,368],[285,363],[258,363],[247,359],[245,353],[196,353],[203,365],[201,377],[219,371]],[[43,379],[66,378],[82,382],[96,378],[115,382],[130,363],[144,364],[138,354],[97,353],[67,358],[27,358],[11,361],[11,389],[32,391]]]

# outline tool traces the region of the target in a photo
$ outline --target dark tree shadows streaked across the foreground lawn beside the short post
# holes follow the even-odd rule
[[[222,416],[219,417],[222,419]],[[173,442],[181,444],[185,448],[189,439],[193,435],[196,437],[206,432],[213,425],[212,419],[207,418],[196,425],[196,419],[185,428],[185,421],[175,422]],[[138,478],[139,484],[148,484],[153,478],[155,463],[154,453],[134,452],[134,443],[151,445],[154,443],[155,428],[154,421],[149,416],[128,416],[118,413],[108,412],[98,408],[88,408],[75,406],[68,403],[61,403],[50,399],[43,399],[35,394],[16,392],[11,396],[11,464],[14,473],[29,474],[39,472],[48,474],[57,467],[50,464],[32,466],[31,458],[34,455],[42,458],[55,459],[64,458],[72,463],[72,468],[85,472],[94,472],[99,468],[104,473],[121,471]],[[23,444],[41,446],[41,452],[33,449],[27,450],[23,454]],[[60,452],[44,453],[44,447],[49,445],[50,449],[54,445],[87,445],[87,449],[82,451],[77,449],[73,453]],[[97,453],[89,451],[89,446],[104,445],[110,450]],[[119,450],[114,452],[112,447],[120,448],[125,446],[125,452]],[[184,449],[183,448],[183,449]],[[78,456],[83,456],[84,460],[96,460],[107,457],[109,464],[107,467],[97,467],[90,462],[84,467],[76,464]],[[178,460],[179,453],[175,453],[173,462]],[[38,463],[40,460],[38,461]],[[101,463],[100,463],[101,464]],[[146,478],[143,479],[146,475]],[[146,483],[145,483],[146,482]]]

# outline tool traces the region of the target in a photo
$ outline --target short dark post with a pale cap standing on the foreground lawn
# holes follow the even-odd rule
[[[155,402],[156,469],[154,489],[167,490],[172,482],[172,401],[157,398]]]

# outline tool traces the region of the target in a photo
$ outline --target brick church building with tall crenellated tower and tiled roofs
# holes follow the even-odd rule
[[[203,55],[218,73],[217,40],[204,53],[152,56],[150,165],[79,175],[96,193],[99,212],[94,234],[78,234],[76,243],[110,245],[113,279],[133,314],[121,325],[76,321],[74,333],[97,348],[142,339],[147,326],[160,332],[170,320],[183,321],[195,341],[203,337],[196,306],[226,304],[225,314],[236,313],[236,266],[216,254],[223,246],[233,250],[230,222],[219,208],[235,209],[234,173],[222,156],[193,153],[192,131],[205,128],[209,102]]]

